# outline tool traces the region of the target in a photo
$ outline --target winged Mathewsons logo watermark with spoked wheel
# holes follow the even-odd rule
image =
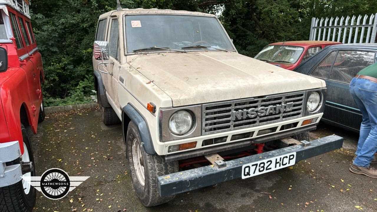
[[[42,194],[51,200],[60,200],[70,191],[75,189],[85,180],[86,176],[72,177],[62,169],[49,169],[40,177],[22,177],[23,180],[31,184]]]

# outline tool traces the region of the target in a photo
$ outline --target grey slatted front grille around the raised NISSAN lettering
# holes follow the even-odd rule
[[[247,117],[242,120],[231,120],[232,111],[287,103],[293,103],[291,111],[284,111],[280,114],[270,114],[262,117],[256,116],[253,118]],[[303,115],[304,105],[305,91],[203,104],[202,135],[250,128],[299,118]]]

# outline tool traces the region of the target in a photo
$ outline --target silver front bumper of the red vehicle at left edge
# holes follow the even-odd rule
[[[21,165],[6,165],[7,162],[16,160],[20,156],[18,141],[0,143],[0,187],[12,185],[21,180]]]

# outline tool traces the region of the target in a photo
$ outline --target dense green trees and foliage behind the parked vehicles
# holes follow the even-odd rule
[[[121,0],[123,8],[210,12],[241,54],[254,56],[265,45],[308,40],[312,17],[372,14],[375,0]],[[46,104],[90,102],[92,45],[99,15],[116,0],[33,0],[31,15],[43,56]]]

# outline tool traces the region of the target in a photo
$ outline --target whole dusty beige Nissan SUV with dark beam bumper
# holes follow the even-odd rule
[[[122,123],[145,206],[342,146],[336,135],[309,141],[325,82],[238,54],[215,15],[107,12],[92,60],[103,122]]]

